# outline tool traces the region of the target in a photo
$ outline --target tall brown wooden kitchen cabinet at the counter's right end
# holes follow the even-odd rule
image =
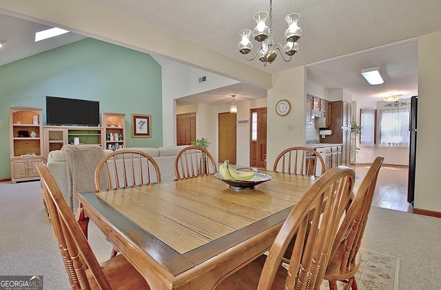
[[[332,154],[331,157],[339,158],[339,165],[349,166],[351,163],[351,104],[346,101],[329,101],[331,104],[330,124],[332,134],[324,138],[320,136],[321,143],[342,144],[340,153]],[[340,162],[341,160],[341,162]]]

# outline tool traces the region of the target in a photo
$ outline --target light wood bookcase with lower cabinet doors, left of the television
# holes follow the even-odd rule
[[[39,180],[34,164],[43,161],[42,109],[11,106],[9,115],[11,181]]]

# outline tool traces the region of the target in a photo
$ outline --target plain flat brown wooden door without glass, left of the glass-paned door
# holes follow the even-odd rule
[[[218,162],[236,164],[236,114],[219,113],[218,126]]]

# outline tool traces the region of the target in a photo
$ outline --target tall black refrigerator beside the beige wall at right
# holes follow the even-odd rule
[[[417,133],[418,96],[411,97],[411,112],[409,119],[409,180],[407,184],[407,202],[413,206],[415,197],[415,163],[416,163],[416,133]]]

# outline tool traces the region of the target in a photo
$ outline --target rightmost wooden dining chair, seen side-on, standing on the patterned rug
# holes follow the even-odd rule
[[[331,290],[338,289],[337,281],[345,281],[345,289],[358,289],[354,278],[361,262],[358,250],[383,161],[384,157],[381,155],[373,161],[342,221],[324,277],[325,280],[329,280]]]

